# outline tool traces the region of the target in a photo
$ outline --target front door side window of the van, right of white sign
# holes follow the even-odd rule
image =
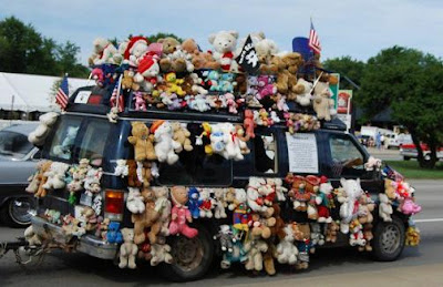
[[[329,176],[360,177],[364,174],[364,155],[349,136],[331,134],[329,148],[331,152]]]

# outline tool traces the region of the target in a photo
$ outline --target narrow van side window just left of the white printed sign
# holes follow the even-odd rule
[[[254,139],[255,172],[278,173],[277,141],[272,133],[256,134]]]

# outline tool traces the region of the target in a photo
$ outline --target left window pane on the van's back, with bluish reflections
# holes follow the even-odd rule
[[[56,126],[55,134],[49,148],[49,155],[70,161],[82,119],[63,117]]]

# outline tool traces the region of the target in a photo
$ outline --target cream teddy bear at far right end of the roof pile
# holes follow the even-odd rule
[[[331,109],[334,106],[334,102],[331,96],[332,93],[329,89],[329,83],[317,82],[316,86],[313,88],[312,107],[313,111],[316,111],[319,120],[331,120],[331,116],[333,115],[331,114]]]

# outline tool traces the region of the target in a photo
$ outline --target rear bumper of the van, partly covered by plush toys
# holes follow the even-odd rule
[[[64,230],[47,219],[39,216],[32,216],[31,218],[32,228],[39,235],[50,235],[52,239],[60,244],[68,244],[72,237],[66,236]],[[109,244],[100,238],[92,235],[83,235],[76,246],[75,250],[91,255],[93,257],[102,259],[114,259],[117,253],[116,244]]]

